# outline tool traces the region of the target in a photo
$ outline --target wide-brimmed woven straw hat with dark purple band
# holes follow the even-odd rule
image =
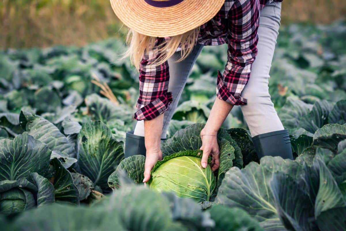
[[[110,0],[118,18],[140,34],[170,37],[212,19],[225,0]]]

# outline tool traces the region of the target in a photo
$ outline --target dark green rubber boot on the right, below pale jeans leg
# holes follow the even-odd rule
[[[252,137],[258,159],[264,156],[280,156],[293,160],[290,134],[288,130],[268,132]]]

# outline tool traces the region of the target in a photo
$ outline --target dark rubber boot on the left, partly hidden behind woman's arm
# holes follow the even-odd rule
[[[146,154],[146,148],[144,143],[144,136],[134,135],[134,131],[126,132],[125,138],[125,158],[134,156],[134,155],[143,155]],[[166,139],[161,139],[166,140]]]

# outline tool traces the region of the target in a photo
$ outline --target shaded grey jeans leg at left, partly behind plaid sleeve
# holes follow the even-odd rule
[[[197,60],[198,55],[203,49],[203,45],[196,44],[191,53],[180,62],[175,62],[180,59],[180,51],[175,52],[172,57],[168,59],[170,81],[168,91],[172,91],[173,101],[169,105],[168,110],[164,112],[163,129],[161,138],[166,138],[169,123],[173,117],[174,111],[178,105],[181,93],[188,80],[192,66]],[[135,135],[144,136],[144,121],[138,121],[134,131]]]

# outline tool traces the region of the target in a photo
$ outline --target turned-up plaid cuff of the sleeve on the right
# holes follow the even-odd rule
[[[227,86],[225,85],[224,80],[222,80],[222,74],[218,70],[218,75],[217,75],[217,89],[216,89],[216,96],[221,99],[226,101],[227,103],[234,104],[234,105],[246,105],[247,100],[244,99],[243,97],[239,96],[235,97],[234,94],[232,94]]]

